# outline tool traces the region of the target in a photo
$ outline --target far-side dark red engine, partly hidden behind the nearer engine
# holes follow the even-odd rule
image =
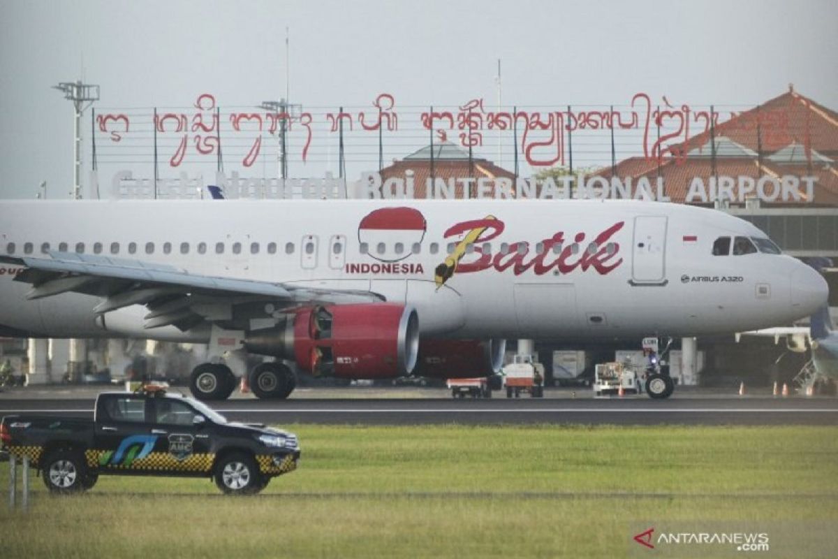
[[[424,339],[416,376],[454,379],[490,376],[504,366],[505,339]]]

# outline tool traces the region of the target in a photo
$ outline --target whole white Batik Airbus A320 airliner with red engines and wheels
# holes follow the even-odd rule
[[[248,375],[489,376],[505,339],[789,323],[823,277],[716,210],[634,200],[3,200],[0,335],[208,344],[202,400]],[[251,371],[241,356],[266,355]],[[235,373],[233,369],[236,369]],[[654,398],[674,390],[649,375]]]

